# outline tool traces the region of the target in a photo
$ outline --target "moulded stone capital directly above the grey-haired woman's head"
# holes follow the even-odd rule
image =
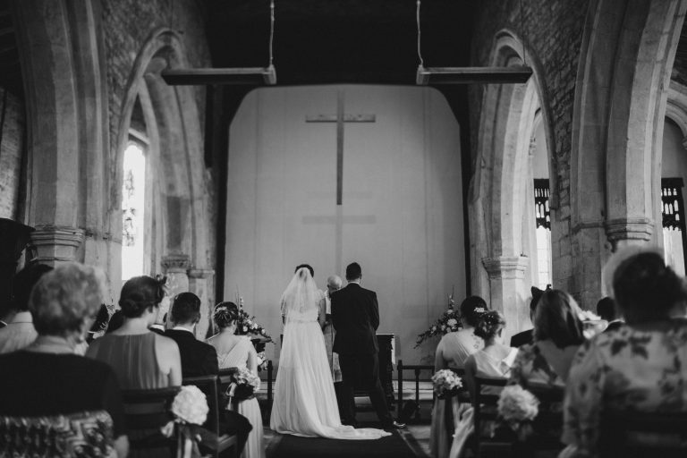
[[[31,233],[36,260],[55,267],[60,262],[81,259],[78,251],[84,241],[84,231],[77,227],[40,225]]]

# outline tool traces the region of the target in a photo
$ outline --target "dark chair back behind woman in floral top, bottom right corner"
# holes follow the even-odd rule
[[[598,449],[601,458],[687,456],[687,411],[603,411]]]

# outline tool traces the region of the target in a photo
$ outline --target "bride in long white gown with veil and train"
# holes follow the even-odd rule
[[[321,325],[325,304],[307,267],[282,295],[284,343],[276,373],[269,427],[281,434],[332,439],[377,439],[382,429],[344,426],[339,420]]]

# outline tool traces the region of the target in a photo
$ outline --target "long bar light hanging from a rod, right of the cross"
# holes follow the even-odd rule
[[[415,84],[420,86],[428,84],[470,83],[505,84],[522,83],[530,79],[532,69],[527,65],[513,65],[510,67],[425,67],[420,49],[420,0],[417,0],[415,16],[418,28],[418,58],[420,59],[418,72],[415,76]]]

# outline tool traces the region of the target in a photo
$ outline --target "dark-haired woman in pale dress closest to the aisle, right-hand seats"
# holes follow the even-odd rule
[[[487,310],[487,302],[479,296],[471,296],[462,301],[460,307],[462,329],[448,333],[441,338],[435,353],[435,372],[448,367],[464,368],[465,360],[472,353],[478,352],[484,347],[482,338],[475,335],[475,327],[479,322],[479,317]],[[458,398],[455,396],[450,399],[435,399],[434,409],[432,410],[432,426],[429,434],[432,456],[435,458],[445,458],[451,450],[454,431],[449,427],[451,422],[446,420],[447,412],[445,409],[450,408],[453,410],[453,423],[455,423],[455,419],[460,418],[462,411],[469,407],[470,404],[459,403]]]

